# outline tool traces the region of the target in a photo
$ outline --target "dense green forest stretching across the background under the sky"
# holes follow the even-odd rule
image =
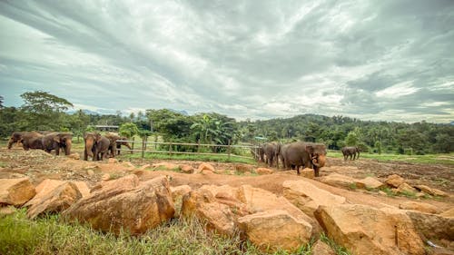
[[[94,125],[118,125],[122,135],[159,135],[165,142],[236,144],[239,142],[321,142],[328,149],[358,146],[361,152],[426,154],[454,152],[452,123],[361,121],[348,116],[301,114],[291,118],[236,121],[220,113],[188,115],[149,109],[125,116],[69,112],[73,104],[43,91],[21,94],[24,104],[5,107],[0,96],[0,137],[15,131],[69,131],[81,139]]]

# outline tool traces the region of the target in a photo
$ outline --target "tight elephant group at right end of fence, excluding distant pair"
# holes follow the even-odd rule
[[[298,174],[300,167],[311,168],[315,176],[320,176],[326,162],[326,146],[315,142],[269,142],[259,148],[259,159],[270,167],[275,164],[278,169],[281,161],[283,169],[296,169]]]

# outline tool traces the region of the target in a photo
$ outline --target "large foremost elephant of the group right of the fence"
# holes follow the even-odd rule
[[[315,176],[320,176],[320,169],[326,162],[326,146],[314,142],[292,142],[281,147],[284,167],[295,166],[300,174],[300,167],[313,168]]]

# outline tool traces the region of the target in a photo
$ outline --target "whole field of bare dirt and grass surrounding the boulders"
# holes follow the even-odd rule
[[[83,154],[82,143],[74,144],[74,152]],[[361,153],[360,160],[345,162],[339,152],[329,152],[327,165],[321,169],[321,176],[338,172],[355,178],[372,176],[384,181],[390,174],[399,174],[409,184],[425,184],[432,188],[454,193],[454,154],[442,155],[390,155]],[[204,161],[214,160],[212,165],[218,172],[207,178],[201,174],[184,174],[173,171],[150,171],[150,176],[165,174],[171,177],[173,186],[188,184],[193,189],[202,184],[227,184],[232,187],[251,184],[254,187],[282,193],[281,183],[286,180],[301,178],[295,171],[282,171],[273,168],[274,174],[256,175],[235,172],[236,162],[225,162],[222,158],[199,156],[174,156],[163,159],[163,155],[124,153],[117,157],[120,161],[131,162],[138,169],[145,164],[156,162],[174,162],[189,164],[197,168]],[[234,159],[234,158],[232,158]],[[253,167],[265,167],[252,161],[242,161]],[[0,149],[0,179],[28,176],[34,184],[44,179],[85,181],[93,186],[101,181],[105,173],[118,178],[131,172],[121,164],[84,162],[70,160],[64,156],[55,157],[42,151],[24,152],[21,148],[6,150],[5,144]],[[92,170],[92,173],[89,173]],[[376,191],[342,189],[317,180],[311,182],[319,188],[341,195],[350,203],[362,203],[373,206],[384,203],[399,206],[402,201],[415,200],[414,196],[380,195]],[[423,197],[419,199],[446,211],[454,204],[453,196],[448,198]],[[16,211],[13,215],[0,219],[0,254],[266,254],[255,249],[249,243],[228,240],[217,235],[207,235],[202,222],[172,221],[153,230],[141,238],[133,238],[126,233],[120,237],[98,233],[87,226],[67,225],[59,220],[58,215],[44,217],[39,221],[29,221],[25,211]],[[188,240],[192,237],[192,240]],[[331,240],[322,238],[335,247],[338,254],[349,254],[336,246]],[[2,242],[4,245],[2,245]],[[9,245],[9,246],[5,246]],[[451,244],[449,244],[451,245]],[[9,247],[6,249],[6,247]],[[15,248],[13,248],[15,247]],[[221,252],[220,252],[221,250]],[[158,252],[159,251],[159,252]],[[158,253],[154,253],[158,252]],[[311,245],[301,247],[299,254],[311,254]],[[277,252],[276,254],[286,254]]]

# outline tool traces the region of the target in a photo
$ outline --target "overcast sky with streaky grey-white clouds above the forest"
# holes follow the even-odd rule
[[[5,106],[454,120],[454,1],[0,1]]]

